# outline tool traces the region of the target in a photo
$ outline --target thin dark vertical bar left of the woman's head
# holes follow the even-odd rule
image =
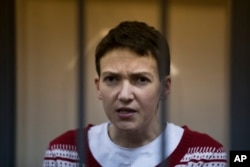
[[[77,148],[79,155],[79,167],[85,166],[86,163],[86,151],[85,143],[86,137],[83,131],[85,125],[85,73],[84,73],[84,0],[77,0],[77,28],[78,28],[78,133],[77,133]]]

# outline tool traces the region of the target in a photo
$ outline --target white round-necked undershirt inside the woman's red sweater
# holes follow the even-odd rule
[[[153,167],[163,161],[161,157],[162,134],[150,143],[137,148],[124,148],[115,144],[108,135],[109,122],[90,128],[88,141],[91,153],[103,167]],[[165,133],[166,159],[179,144],[184,129],[167,123]]]

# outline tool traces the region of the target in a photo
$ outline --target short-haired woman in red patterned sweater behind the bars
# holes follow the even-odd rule
[[[109,122],[85,128],[85,166],[226,166],[223,146],[210,136],[160,121],[159,102],[170,93],[171,79],[168,44],[158,30],[122,22],[100,41],[95,59],[97,96]],[[72,130],[50,142],[43,166],[78,161]]]

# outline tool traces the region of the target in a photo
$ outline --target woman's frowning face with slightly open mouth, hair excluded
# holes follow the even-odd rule
[[[162,89],[153,56],[114,49],[104,55],[100,67],[97,95],[115,128],[137,131],[155,125]]]

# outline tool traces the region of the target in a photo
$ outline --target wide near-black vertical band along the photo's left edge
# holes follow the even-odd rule
[[[16,166],[15,1],[0,2],[0,166]]]

